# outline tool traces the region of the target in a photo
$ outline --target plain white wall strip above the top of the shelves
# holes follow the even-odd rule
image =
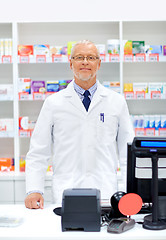
[[[164,20],[165,0],[6,0],[0,21]]]

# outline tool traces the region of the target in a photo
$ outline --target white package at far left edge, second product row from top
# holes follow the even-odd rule
[[[13,84],[0,84],[0,100],[10,100],[13,97]]]

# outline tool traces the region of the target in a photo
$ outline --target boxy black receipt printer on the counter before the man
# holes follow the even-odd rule
[[[99,232],[101,221],[100,191],[97,189],[66,189],[61,208],[62,231]]]

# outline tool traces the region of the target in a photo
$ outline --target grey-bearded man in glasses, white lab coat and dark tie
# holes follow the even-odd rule
[[[73,81],[45,100],[26,157],[26,207],[43,208],[50,158],[57,204],[67,188],[97,188],[101,199],[110,199],[117,191],[118,159],[125,179],[133,128],[123,96],[96,79],[100,64],[92,42],[77,43],[70,60]]]

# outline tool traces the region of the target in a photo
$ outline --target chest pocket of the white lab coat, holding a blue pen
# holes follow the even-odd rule
[[[110,143],[110,141],[116,140],[117,131],[117,117],[101,113],[97,120],[97,139],[102,143]]]

